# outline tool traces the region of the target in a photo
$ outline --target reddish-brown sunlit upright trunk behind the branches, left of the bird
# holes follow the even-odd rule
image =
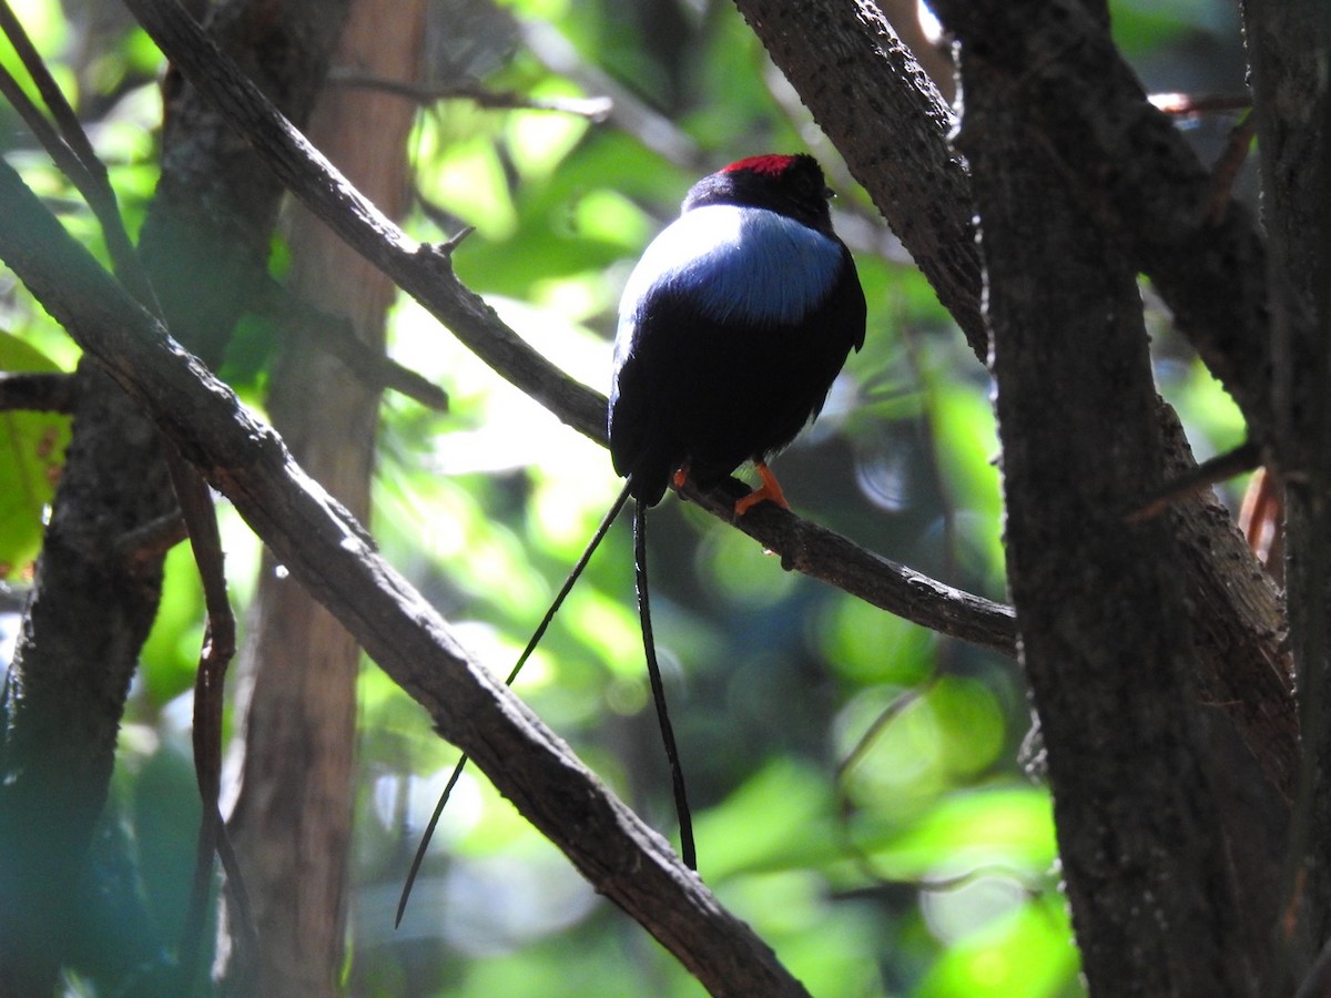
[[[413,83],[422,0],[359,0],[335,65]],[[406,138],[415,105],[382,90],[325,89],[310,141],[390,217],[407,208]],[[375,353],[394,287],[305,209],[291,222],[289,294]],[[301,327],[303,325],[303,327]],[[269,387],[273,426],[291,455],[366,522],[379,393],[335,359],[319,322],[291,323]],[[326,326],[323,331],[327,334]],[[325,995],[346,937],[355,679],[361,649],[338,621],[264,552],[245,668],[253,672],[241,794],[230,818],[260,953],[262,994]],[[234,941],[233,941],[234,942]]]

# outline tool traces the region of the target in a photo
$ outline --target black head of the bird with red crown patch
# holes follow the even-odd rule
[[[831,236],[831,196],[812,156],[751,156],[697,181],[683,210],[703,205],[767,208]]]

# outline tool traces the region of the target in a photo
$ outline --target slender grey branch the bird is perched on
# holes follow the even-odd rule
[[[128,0],[149,35],[194,85],[217,101],[218,108],[268,161],[295,197],[326,222],[366,259],[383,270],[407,294],[443,322],[467,347],[514,386],[531,395],[568,426],[598,443],[606,443],[606,398],[570,379],[499,321],[486,302],[469,290],[446,254],[413,242],[366,198],[269,104],[254,85],[202,35],[176,0]],[[727,520],[732,512],[711,503],[712,512]],[[745,518],[747,520],[749,518]],[[773,551],[791,552],[791,538],[772,530],[767,516],[753,518],[744,530]],[[808,524],[805,524],[808,526]],[[1010,620],[1000,604],[969,596],[960,603],[957,591],[924,576],[898,570],[851,542],[836,548],[815,544],[829,540],[829,531],[807,530],[799,558],[791,567],[833,582],[874,605],[901,612],[906,619],[941,633],[977,640],[1012,652]],[[845,558],[855,558],[848,568]],[[853,587],[853,588],[852,588]],[[978,615],[978,616],[976,616]]]

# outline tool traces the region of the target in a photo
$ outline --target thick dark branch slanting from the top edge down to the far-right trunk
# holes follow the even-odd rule
[[[1081,0],[934,5],[1030,117],[1077,204],[1115,240],[1234,397],[1250,435],[1272,438],[1266,249]]]

